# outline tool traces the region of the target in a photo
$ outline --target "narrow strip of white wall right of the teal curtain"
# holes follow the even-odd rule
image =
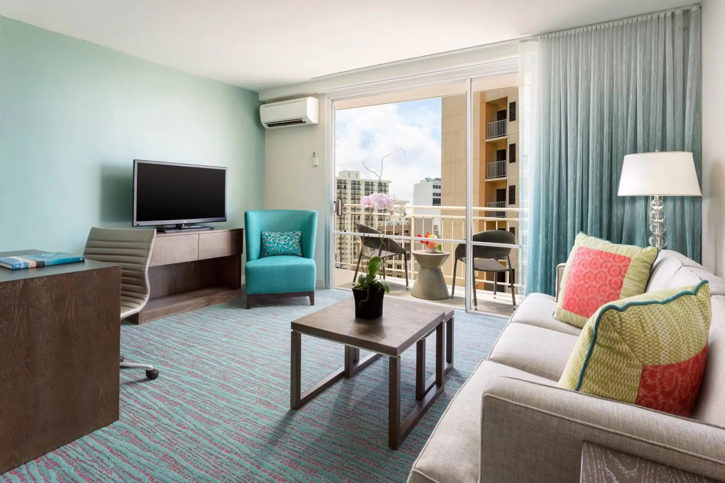
[[[703,265],[725,275],[725,1],[703,0]]]

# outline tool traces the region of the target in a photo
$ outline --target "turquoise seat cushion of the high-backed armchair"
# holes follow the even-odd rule
[[[250,260],[244,266],[247,293],[290,293],[315,290],[315,261],[278,255]]]

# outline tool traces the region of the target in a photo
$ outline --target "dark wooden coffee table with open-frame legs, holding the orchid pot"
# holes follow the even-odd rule
[[[453,311],[386,297],[383,316],[367,321],[355,319],[354,304],[350,298],[292,322],[290,406],[301,408],[342,377],[352,377],[378,357],[386,356],[389,358],[388,445],[397,450],[443,392],[444,375],[453,366]],[[426,379],[426,337],[434,331],[436,371]],[[304,393],[300,381],[302,334],[345,345],[344,366]],[[416,351],[415,398],[419,403],[401,421],[400,355],[413,344]],[[360,360],[360,349],[373,353]]]

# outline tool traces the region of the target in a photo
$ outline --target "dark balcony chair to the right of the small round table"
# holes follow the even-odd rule
[[[473,235],[472,240],[475,242],[485,243],[505,243],[506,245],[513,245],[516,243],[516,235],[506,230],[486,230],[485,232],[478,232]],[[513,306],[516,306],[516,294],[513,288],[513,268],[511,266],[510,259],[510,248],[497,247],[497,246],[481,246],[473,245],[473,264],[471,264],[471,275],[473,280],[476,280],[476,271],[478,272],[508,272],[508,280],[511,285],[511,300]],[[506,260],[506,264],[500,264],[499,260]],[[455,258],[453,261],[453,287],[451,287],[451,298],[455,293],[455,269],[458,261],[463,261],[465,264],[465,243],[459,243],[455,248]],[[494,297],[497,293],[498,280],[494,280]],[[476,297],[476,284],[473,284],[473,307],[479,306],[479,301]]]

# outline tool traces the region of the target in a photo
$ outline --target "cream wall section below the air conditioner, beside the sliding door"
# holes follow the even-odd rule
[[[310,209],[318,211],[318,287],[324,285],[326,218],[331,200],[326,185],[325,135],[327,98],[320,99],[320,124],[265,130],[265,209]],[[312,151],[319,165],[312,166]]]

